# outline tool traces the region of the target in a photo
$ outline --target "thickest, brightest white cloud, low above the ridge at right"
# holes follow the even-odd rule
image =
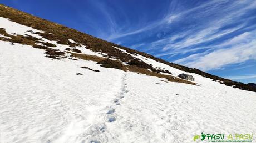
[[[193,59],[192,62],[188,62],[185,65],[207,71],[220,69],[228,64],[242,63],[249,59],[256,59],[256,36],[251,34],[252,33],[245,32],[234,37],[228,42],[223,43],[228,45],[229,48],[214,50],[203,56],[200,55],[196,57],[196,59]],[[244,43],[244,39],[247,38],[251,39],[250,42]]]

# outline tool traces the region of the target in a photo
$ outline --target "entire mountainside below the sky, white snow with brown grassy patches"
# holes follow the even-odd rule
[[[256,136],[253,87],[3,5],[0,28],[0,142],[194,142],[201,132]]]

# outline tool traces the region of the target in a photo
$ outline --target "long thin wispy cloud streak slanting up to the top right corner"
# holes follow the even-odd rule
[[[176,51],[180,51],[184,53],[183,50],[181,49],[190,48],[191,46],[196,44],[210,42],[211,40],[224,37],[225,35],[228,35],[232,32],[235,32],[239,29],[244,28],[246,26],[244,22],[247,22],[247,21],[246,19],[241,19],[240,16],[242,16],[248,10],[254,8],[253,6],[256,6],[256,2],[254,3],[248,2],[247,6],[237,10],[236,9],[236,7],[238,7],[237,4],[233,3],[231,6],[225,8],[226,12],[227,11],[230,11],[230,12],[225,14],[223,17],[218,18],[217,20],[211,21],[209,23],[195,24],[193,29],[185,30],[184,32],[170,35],[170,37],[161,39],[157,42],[152,42],[152,47],[157,47],[157,46],[162,47],[163,52],[157,54],[156,56],[161,57],[164,55],[170,55],[170,54],[176,53]],[[203,8],[203,7],[200,7],[200,8]],[[215,10],[219,9],[217,6],[215,6],[215,8],[216,8]],[[234,21],[235,22],[243,21],[243,22],[237,23],[236,27],[225,28],[229,24],[234,23]],[[177,41],[176,39],[178,38],[181,38],[181,40]],[[171,50],[171,52],[169,52],[169,49]],[[191,50],[189,49],[188,52],[189,51]]]

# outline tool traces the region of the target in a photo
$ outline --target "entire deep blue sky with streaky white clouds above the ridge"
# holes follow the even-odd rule
[[[256,1],[2,0],[169,62],[256,83]]]

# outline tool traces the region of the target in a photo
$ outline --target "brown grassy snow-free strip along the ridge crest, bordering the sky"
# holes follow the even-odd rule
[[[171,67],[174,67],[179,70],[183,70],[185,72],[189,73],[196,73],[202,76],[205,76],[206,78],[211,78],[214,81],[219,80],[223,81],[223,83],[227,86],[234,86],[234,88],[239,88],[243,90],[249,90],[249,91],[256,91],[256,88],[253,88],[252,86],[238,83],[229,79],[220,78],[215,75],[211,75],[205,72],[202,72],[199,69],[191,69],[188,67],[184,67],[182,65],[174,64],[166,62],[163,59],[156,58],[150,54],[146,54],[143,52],[139,52],[137,50],[133,50],[130,48],[122,47],[120,45],[116,45],[111,42],[107,42],[105,40],[93,37],[91,35],[78,32],[75,29],[71,29],[68,27],[65,27],[60,24],[56,24],[50,21],[47,21],[46,19],[38,18],[35,16],[32,16],[31,14],[24,13],[22,11],[18,11],[17,9],[13,9],[10,7],[4,6],[0,4],[0,17],[5,17],[11,19],[13,22],[17,22],[22,25],[27,25],[29,27],[45,31],[45,33],[37,33],[39,35],[42,35],[44,38],[49,40],[56,40],[60,44],[66,44],[70,45],[70,47],[75,47],[76,45],[73,45],[72,43],[68,42],[68,39],[74,40],[76,43],[86,45],[87,48],[90,48],[91,50],[95,52],[102,52],[107,53],[106,57],[116,57],[117,59],[120,59],[122,62],[129,62],[131,60],[134,60],[134,57],[132,57],[129,54],[122,53],[119,49],[113,48],[112,46],[119,47],[121,49],[125,49],[127,52],[131,54],[140,54],[144,57],[154,59],[156,61],[159,61],[161,63],[165,63],[170,65]]]

